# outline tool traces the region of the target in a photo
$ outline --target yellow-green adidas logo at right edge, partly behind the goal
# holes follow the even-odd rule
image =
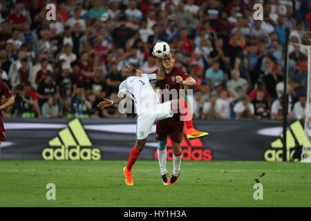
[[[281,135],[281,138],[283,134]],[[271,143],[271,149],[265,151],[266,161],[283,161],[283,141],[281,138],[274,140]],[[290,129],[286,131],[286,143],[287,143],[287,159],[290,161],[299,161],[299,157],[295,157],[297,146],[303,146],[303,153],[305,156],[303,158],[310,157],[311,144],[308,136],[305,134],[301,122],[296,121],[290,124]],[[309,153],[309,154],[308,154]],[[300,154],[299,154],[300,156]]]

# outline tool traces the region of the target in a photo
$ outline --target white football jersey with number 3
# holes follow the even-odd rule
[[[156,74],[143,74],[141,77],[126,78],[119,86],[119,93],[124,93],[133,99],[138,115],[160,104],[160,99],[150,82],[156,81]]]

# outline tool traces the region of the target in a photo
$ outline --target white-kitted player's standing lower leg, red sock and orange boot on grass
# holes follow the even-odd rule
[[[142,149],[144,148],[144,144],[146,144],[147,138],[144,140],[137,140],[135,146],[131,149],[129,160],[127,162],[127,165],[124,167],[124,181],[126,185],[133,186],[133,177],[132,177],[132,167],[135,164],[136,160],[138,159],[138,155],[142,152]]]

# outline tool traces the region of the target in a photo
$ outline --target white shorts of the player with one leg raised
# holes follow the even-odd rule
[[[173,117],[171,101],[157,104],[147,111],[140,113],[137,119],[136,139],[143,140],[151,133],[153,124],[161,119]]]

